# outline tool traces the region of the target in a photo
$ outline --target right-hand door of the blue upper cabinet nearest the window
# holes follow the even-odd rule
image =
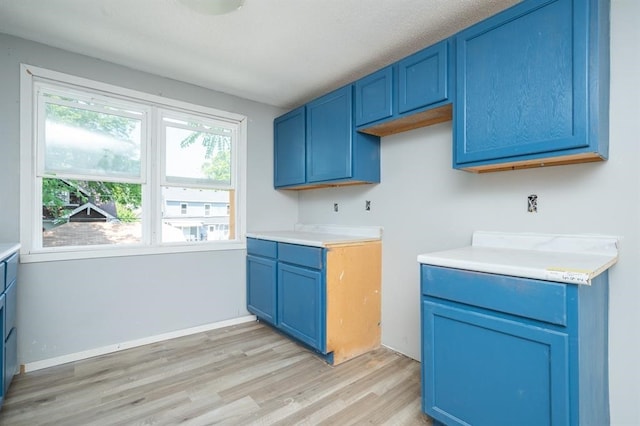
[[[307,104],[307,182],[352,177],[352,100],[346,86]]]

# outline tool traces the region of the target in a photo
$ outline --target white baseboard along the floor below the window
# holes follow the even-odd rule
[[[103,346],[101,348],[89,349],[87,351],[75,352],[68,355],[62,355],[55,358],[44,359],[42,361],[34,361],[20,366],[20,372],[30,372],[42,370],[43,368],[54,367],[56,365],[66,364],[68,362],[80,361],[94,356],[105,355],[112,352],[123,351],[138,346],[148,345],[150,343],[162,342],[163,340],[175,339],[176,337],[189,336],[191,334],[202,333],[204,331],[215,330],[231,325],[242,324],[245,322],[255,321],[255,315],[247,315],[240,318],[215,322],[212,324],[200,325],[197,327],[186,328],[183,330],[172,331],[169,333],[158,334],[155,336],[143,337],[142,339],[130,340],[128,342],[116,343],[113,345]]]

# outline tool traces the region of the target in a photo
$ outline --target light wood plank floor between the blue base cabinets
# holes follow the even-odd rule
[[[18,375],[0,425],[419,425],[420,364],[330,366],[259,322]]]

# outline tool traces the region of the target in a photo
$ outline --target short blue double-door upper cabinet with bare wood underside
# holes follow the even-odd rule
[[[451,120],[453,60],[447,39],[356,81],[358,131],[387,136]]]

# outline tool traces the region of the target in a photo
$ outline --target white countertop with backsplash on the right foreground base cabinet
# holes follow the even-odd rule
[[[418,262],[570,284],[591,280],[618,260],[606,236],[475,232],[471,246],[418,256]]]

